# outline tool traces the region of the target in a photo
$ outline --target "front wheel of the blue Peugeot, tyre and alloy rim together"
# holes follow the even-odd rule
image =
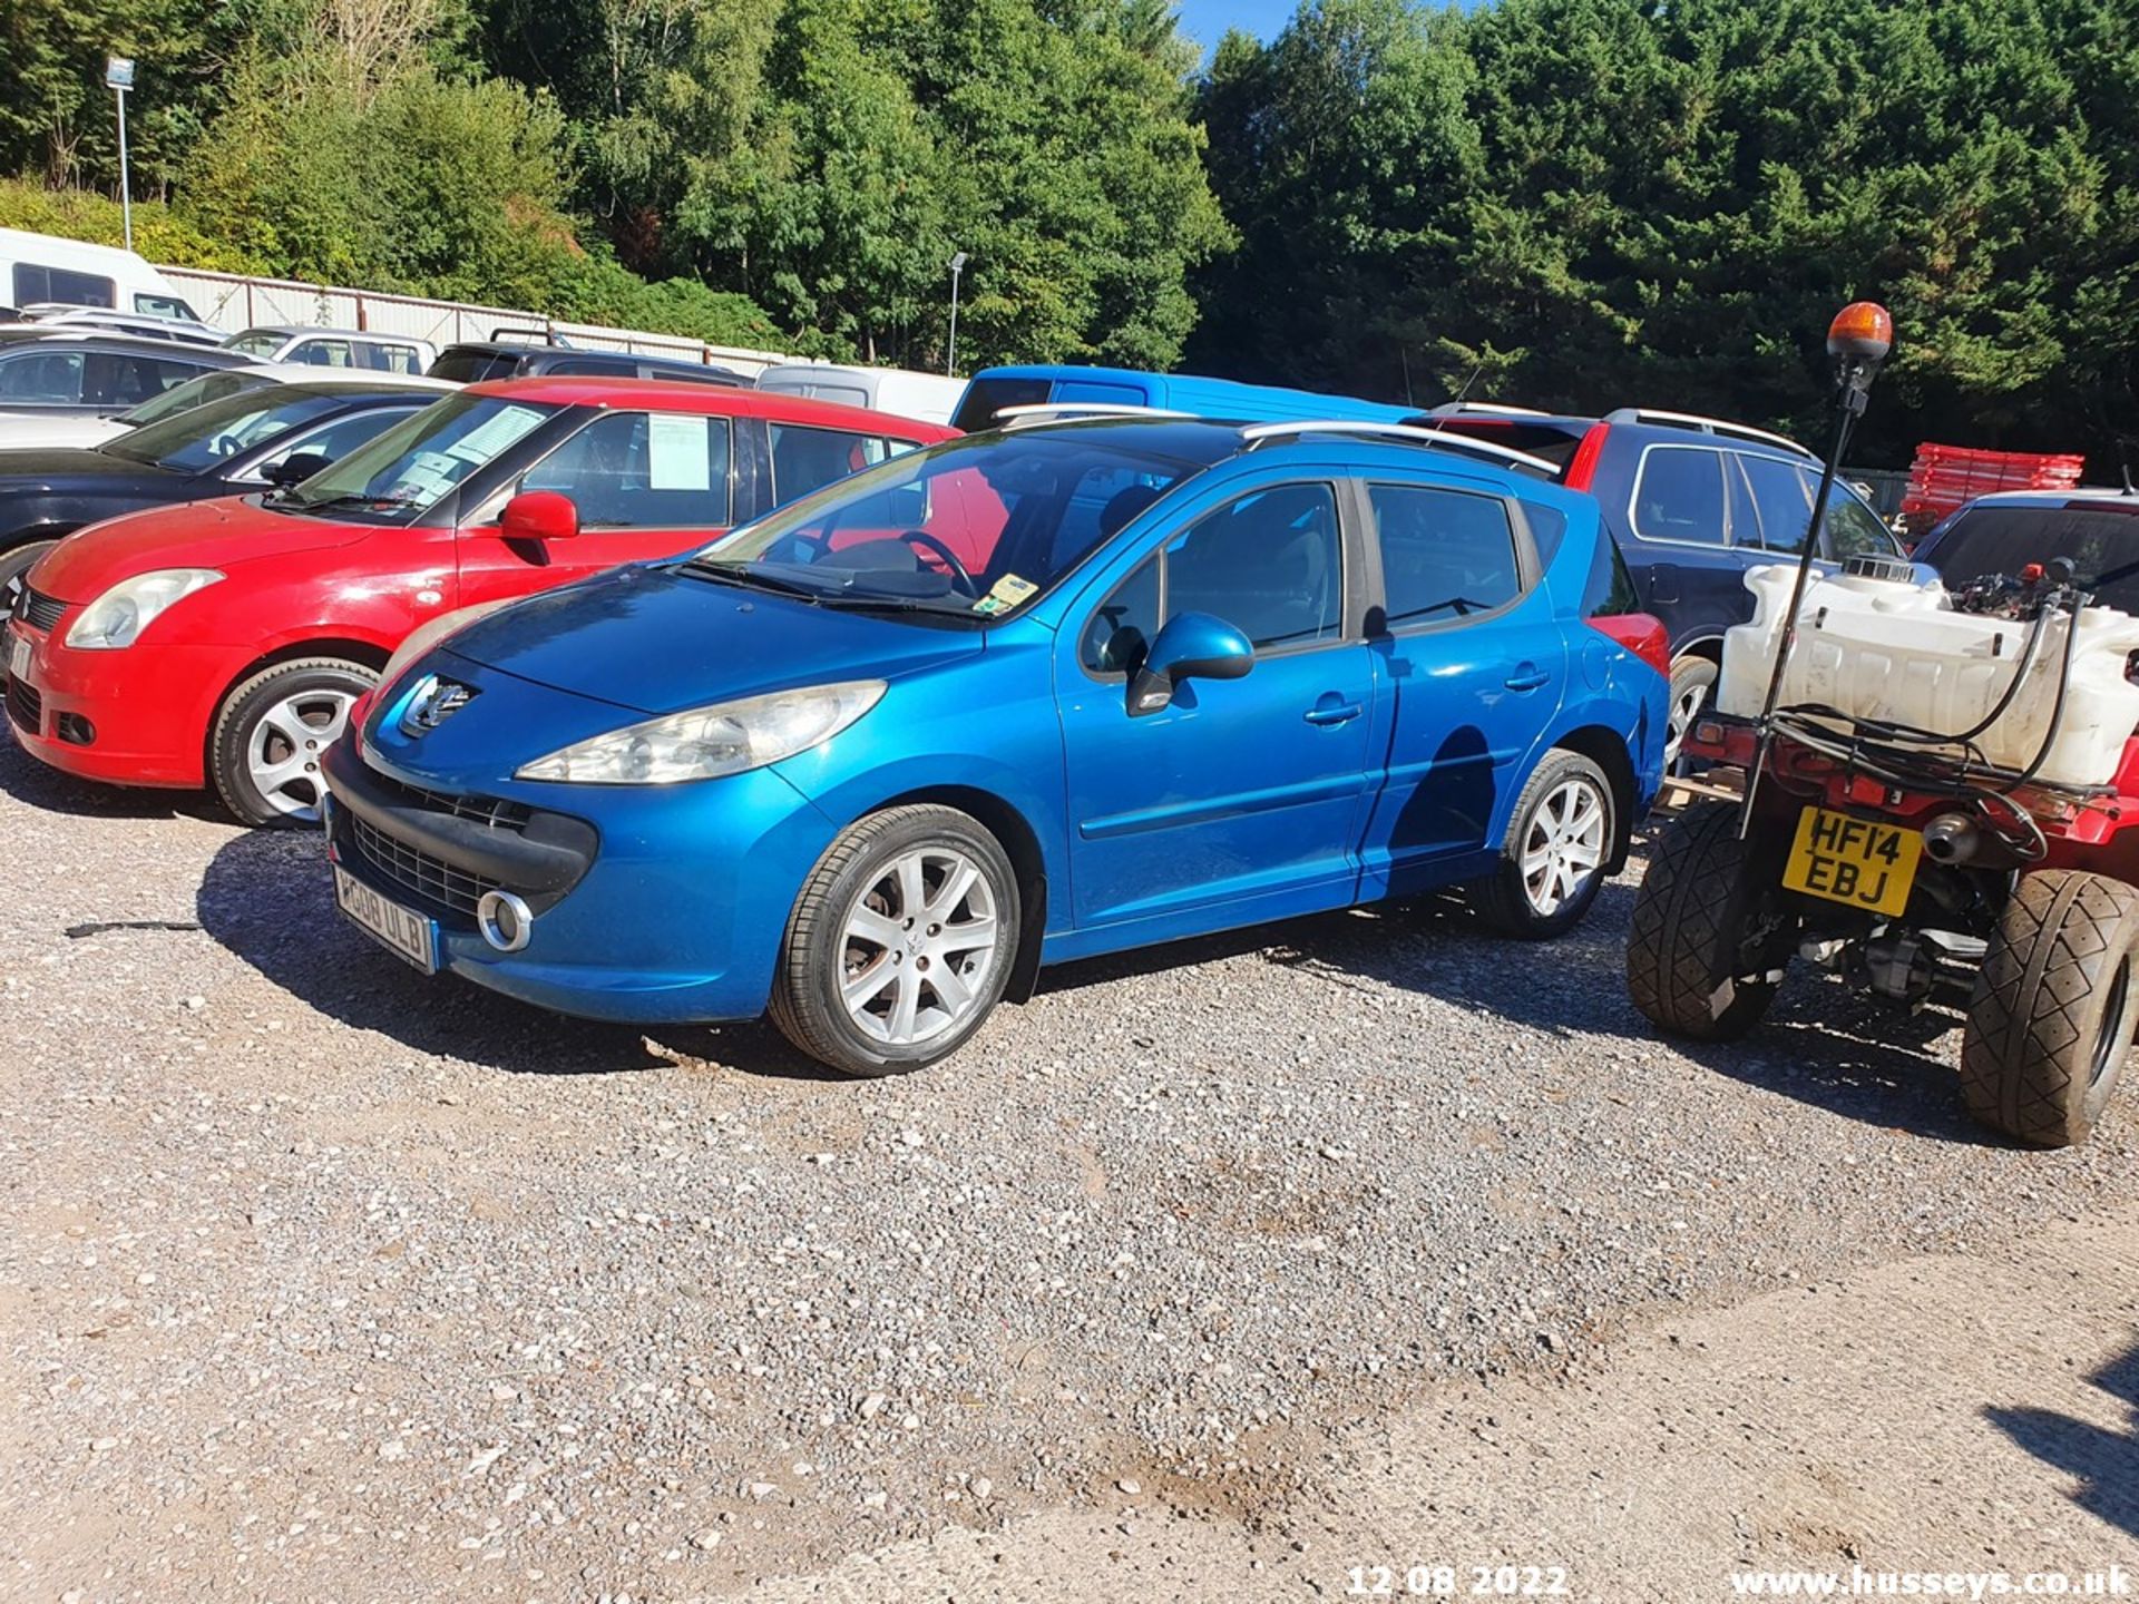
[[[1018,877],[956,808],[886,808],[817,860],[772,982],[772,1022],[845,1076],[924,1069],[986,1022],[1018,952]]]

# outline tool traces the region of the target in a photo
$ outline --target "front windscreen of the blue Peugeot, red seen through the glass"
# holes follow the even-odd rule
[[[1204,447],[1183,456],[1142,443],[1159,436],[1078,426],[950,441],[747,524],[687,567],[821,601],[999,618],[1213,458],[1200,438],[1161,441]]]

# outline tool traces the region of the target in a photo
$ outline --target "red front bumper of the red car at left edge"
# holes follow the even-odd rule
[[[0,665],[15,661],[17,642],[30,644],[24,674],[9,676],[6,689],[6,723],[21,749],[107,785],[205,785],[207,714],[244,667],[242,654],[156,644],[79,652],[64,644],[68,616],[49,633],[19,616],[4,624]]]

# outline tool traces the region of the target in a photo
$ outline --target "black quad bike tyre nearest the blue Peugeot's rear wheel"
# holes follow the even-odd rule
[[[1733,802],[1692,806],[1658,834],[1634,898],[1626,988],[1660,1029],[1735,1042],[1775,1001],[1769,973],[1788,920],[1763,870]]]

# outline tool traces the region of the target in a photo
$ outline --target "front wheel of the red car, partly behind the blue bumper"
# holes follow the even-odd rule
[[[379,676],[340,657],[276,663],[222,699],[207,738],[207,776],[240,823],[319,823],[327,783],[319,759],[349,708]]]

